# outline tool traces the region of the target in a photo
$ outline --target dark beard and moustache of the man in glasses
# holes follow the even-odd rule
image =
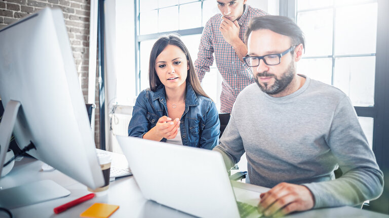
[[[264,93],[274,95],[283,91],[290,84],[290,82],[292,82],[294,74],[295,74],[295,68],[292,61],[289,64],[288,69],[281,75],[280,79],[278,79],[274,74],[269,74],[267,73],[267,71],[265,71],[263,73],[258,73],[257,75],[255,75],[254,80]],[[267,82],[261,85],[258,82],[258,77],[274,77],[275,81],[274,84],[271,86],[267,84]]]

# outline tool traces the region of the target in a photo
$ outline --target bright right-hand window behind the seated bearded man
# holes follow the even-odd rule
[[[374,108],[377,1],[296,1],[296,22],[305,35],[298,72],[333,85],[357,112]],[[370,146],[373,114],[359,117]]]

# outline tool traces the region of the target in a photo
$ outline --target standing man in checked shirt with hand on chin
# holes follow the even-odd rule
[[[242,89],[254,83],[251,69],[243,62],[247,46],[243,41],[249,21],[267,15],[246,4],[247,0],[217,0],[221,14],[211,17],[204,27],[195,68],[200,82],[213,64],[223,77],[221,83],[221,113],[231,113],[232,105]]]

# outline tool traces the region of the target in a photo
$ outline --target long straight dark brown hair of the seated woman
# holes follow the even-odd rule
[[[186,56],[186,60],[189,65],[189,70],[186,76],[186,82],[192,86],[193,91],[195,91],[197,94],[210,98],[200,85],[200,80],[197,77],[195,67],[193,66],[193,62],[192,59],[190,58],[188,49],[186,48],[185,44],[181,41],[179,36],[176,34],[161,36],[152,46],[151,53],[150,53],[150,61],[148,65],[148,78],[149,78],[151,91],[157,90],[157,87],[162,84],[160,78],[157,75],[157,71],[155,71],[155,60],[160,55],[160,53],[165,49],[165,47],[169,44],[181,48],[182,52],[184,52]]]

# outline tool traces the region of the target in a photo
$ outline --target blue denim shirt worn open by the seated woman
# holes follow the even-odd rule
[[[142,138],[163,116],[169,117],[165,86],[161,84],[155,92],[149,88],[143,90],[136,99],[128,135]],[[210,98],[196,94],[189,83],[186,83],[180,133],[183,145],[212,149],[219,144],[220,122],[216,105]],[[166,142],[166,138],[161,141]]]

